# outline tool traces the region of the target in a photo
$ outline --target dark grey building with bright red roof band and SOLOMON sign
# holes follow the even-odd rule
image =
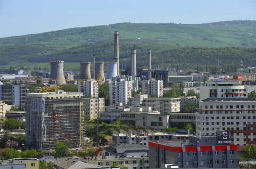
[[[172,163],[179,168],[237,168],[237,145],[220,144],[223,135],[190,136],[184,141],[149,142],[149,168]]]

